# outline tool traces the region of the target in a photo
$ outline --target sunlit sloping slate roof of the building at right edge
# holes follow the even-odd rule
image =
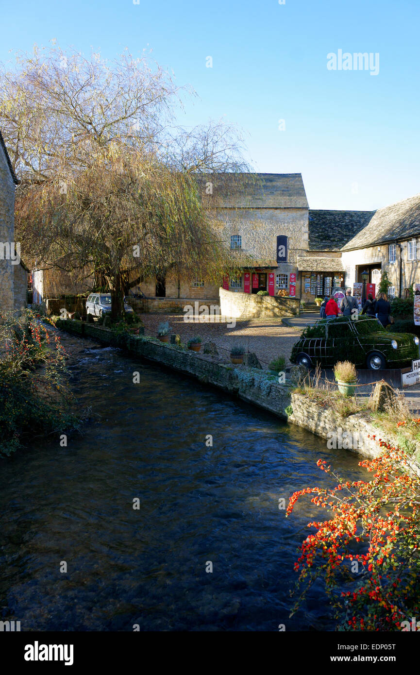
[[[342,250],[376,246],[416,236],[420,236],[420,194],[384,209],[377,209],[369,224],[346,243]]]

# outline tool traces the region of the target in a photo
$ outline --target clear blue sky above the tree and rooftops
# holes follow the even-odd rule
[[[255,170],[303,174],[311,208],[375,209],[420,192],[419,0],[0,0],[0,9],[1,61],[51,38],[107,58],[153,48],[199,94],[182,124],[225,115],[246,133]],[[339,49],[379,53],[379,74],[327,70]]]

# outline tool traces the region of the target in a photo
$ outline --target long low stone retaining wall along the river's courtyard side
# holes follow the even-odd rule
[[[322,404],[319,400],[312,400],[293,391],[296,383],[290,371],[286,373],[286,381],[279,383],[278,376],[269,371],[244,365],[235,367],[231,363],[220,362],[211,354],[185,350],[182,346],[165,344],[156,338],[128,333],[116,334],[111,329],[82,321],[57,319],[57,327],[122,348],[132,355],[190,375],[201,383],[238,396],[249,404],[323,437],[327,443],[332,444],[329,447],[351,450],[361,456],[374,458],[381,453],[377,444],[379,437],[393,445],[398,445],[400,440],[397,433],[379,429],[377,421],[368,411],[343,416],[329,406],[327,401]],[[420,450],[417,443],[412,450]]]

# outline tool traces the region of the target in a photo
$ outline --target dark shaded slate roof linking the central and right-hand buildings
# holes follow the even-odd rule
[[[369,223],[374,213],[309,209],[309,250],[339,251]]]

